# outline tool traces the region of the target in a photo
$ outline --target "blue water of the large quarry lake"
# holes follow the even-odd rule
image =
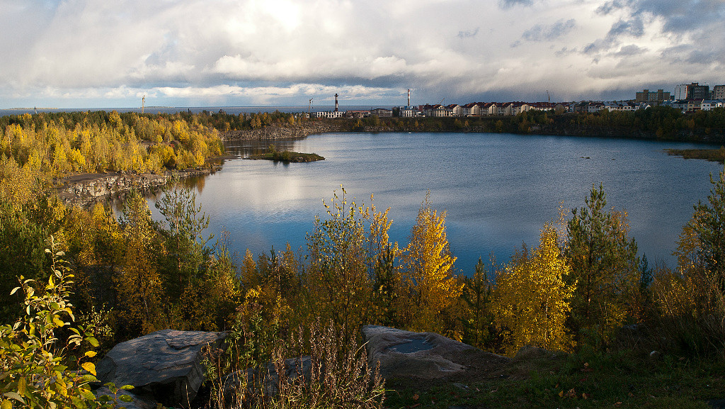
[[[538,246],[539,230],[559,208],[584,206],[592,184],[603,184],[608,206],[629,214],[639,254],[674,267],[671,252],[692,205],[707,198],[719,163],[668,156],[663,149],[702,147],[678,142],[514,134],[334,133],[273,142],[323,155],[326,161],[225,161],[208,177],[189,180],[210,216],[207,232],[228,230],[231,249],[256,256],[286,243],[306,251],[315,215],[326,217],[334,190],[390,208],[391,239],[407,244],[421,201],[447,212],[457,270],[473,273],[479,256],[508,262],[522,243]],[[228,142],[246,156],[269,141]],[[153,198],[151,199],[153,201]],[[155,208],[152,210],[155,212]],[[571,215],[571,211],[568,211]],[[155,217],[159,215],[155,213]]]

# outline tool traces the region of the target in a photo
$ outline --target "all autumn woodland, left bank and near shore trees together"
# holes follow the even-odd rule
[[[63,368],[92,366],[114,344],[164,328],[231,331],[235,368],[266,363],[297,328],[316,323],[331,325],[341,349],[359,345],[368,324],[441,333],[507,356],[525,345],[608,353],[632,325],[673,354],[720,357],[725,347],[725,174],[682,227],[676,266],[639,256],[626,213],[600,185],[579,208],[552,215],[539,243],[510,260],[479,259],[471,272],[456,269],[446,212],[427,196],[407,243],[389,240],[393,221],[373,197],[350,198],[341,187],[310,221],[306,249],[255,255],[230,254],[229,233],[207,235],[209,217],[181,185],[156,202],[161,222],[140,193],[128,195],[116,217],[100,203],[67,207],[45,190],[74,171],[201,166],[223,146],[218,123],[199,118],[215,116],[2,118],[3,409],[14,397],[36,399],[33,408],[90,405],[87,386],[57,392],[61,381],[88,384],[65,369],[54,367],[61,381],[35,392],[24,376],[48,368],[53,356],[68,357]]]

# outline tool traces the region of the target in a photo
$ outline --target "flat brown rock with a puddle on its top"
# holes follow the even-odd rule
[[[366,325],[368,362],[384,378],[437,379],[500,368],[509,358],[483,352],[437,333]]]

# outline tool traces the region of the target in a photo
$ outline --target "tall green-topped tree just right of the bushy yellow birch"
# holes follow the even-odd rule
[[[592,186],[586,206],[572,209],[567,224],[567,281],[576,283],[573,329],[607,339],[628,315],[626,293],[639,284],[637,243],[629,239],[626,213],[606,211],[602,185]]]

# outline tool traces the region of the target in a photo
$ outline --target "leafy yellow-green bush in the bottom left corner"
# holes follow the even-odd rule
[[[114,408],[114,398],[96,400],[89,387],[96,381],[96,369],[88,359],[96,352],[80,352],[80,357],[72,362],[70,351],[75,352],[85,344],[97,347],[98,341],[92,336],[91,327],[73,325],[75,318],[69,301],[73,275],[67,263],[59,259],[65,253],[56,251],[57,243],[52,236],[49,245],[46,252],[51,255],[51,275],[47,286],[36,292],[31,285],[33,280],[20,276],[21,286],[13,292],[22,290],[25,294],[25,316],[12,326],[0,327],[1,406]],[[61,336],[67,331],[70,336],[64,340]],[[70,365],[80,369],[70,370]]]

